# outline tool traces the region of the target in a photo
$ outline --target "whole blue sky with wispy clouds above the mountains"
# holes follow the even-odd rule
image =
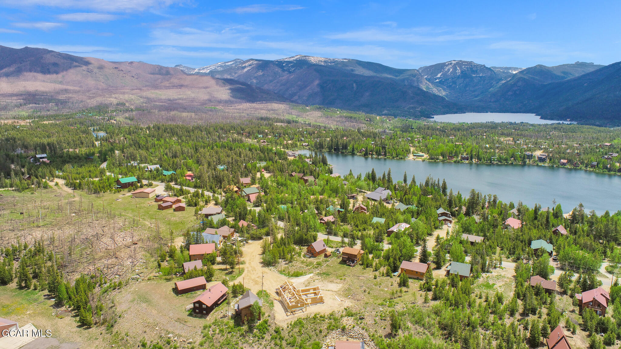
[[[621,2],[2,0],[0,45],[111,61],[448,60],[526,67],[621,61]]]

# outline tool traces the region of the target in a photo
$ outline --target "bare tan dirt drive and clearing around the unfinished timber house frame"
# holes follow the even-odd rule
[[[263,284],[263,289],[268,291],[274,298],[274,317],[275,321],[280,325],[285,325],[298,317],[309,314],[329,314],[334,309],[341,309],[342,307],[345,307],[345,304],[347,303],[345,301],[339,302],[337,300],[335,292],[333,291],[338,289],[338,287],[334,288],[334,285],[331,285],[330,288],[333,291],[327,291],[325,288],[322,288],[324,304],[310,306],[307,308],[306,312],[299,312],[296,315],[287,316],[283,304],[275,300],[276,294],[274,293],[274,290],[283,284],[285,280],[291,281],[296,287],[299,288],[316,286],[318,284],[317,278],[308,275],[300,276],[299,278],[287,278],[282,274],[276,273],[276,271],[264,268],[263,265],[261,265],[261,241],[253,241],[248,243],[243,248],[243,255],[246,264],[244,266],[243,274],[238,278],[238,280],[243,281],[244,285],[255,293],[261,290],[261,284]],[[343,299],[343,297],[339,297],[339,299]]]

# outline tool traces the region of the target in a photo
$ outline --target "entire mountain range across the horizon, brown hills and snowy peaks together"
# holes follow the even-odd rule
[[[621,63],[522,69],[453,60],[398,69],[297,55],[189,68],[0,46],[2,111],[67,112],[107,105],[204,113],[213,105],[247,109],[270,104],[264,108],[268,114],[278,110],[284,115],[288,112],[282,106],[294,103],[403,117],[530,112],[546,119],[616,126],[621,125],[620,79]]]

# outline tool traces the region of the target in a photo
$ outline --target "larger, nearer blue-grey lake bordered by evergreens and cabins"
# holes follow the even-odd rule
[[[309,153],[301,151],[300,153]],[[387,158],[369,158],[340,153],[325,153],[328,162],[334,166],[333,172],[341,176],[370,172],[375,168],[378,176],[391,168],[392,179],[407,180],[416,176],[416,181],[425,181],[428,175],[440,181],[446,179],[448,188],[454,193],[460,191],[467,197],[471,189],[483,194],[496,194],[504,202],[524,202],[529,207],[535,203],[542,207],[552,207],[552,201],[563,206],[569,212],[580,202],[585,210],[595,210],[611,214],[621,209],[621,176],[615,174],[594,173],[592,171],[574,170],[540,165],[491,165],[477,163],[452,163],[420,160],[396,160]]]

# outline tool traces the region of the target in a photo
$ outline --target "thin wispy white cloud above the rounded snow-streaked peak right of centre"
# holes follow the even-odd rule
[[[392,26],[392,24],[391,24]],[[404,28],[394,26],[368,27],[350,32],[326,35],[328,39],[358,41],[358,42],[408,42],[408,43],[435,43],[456,40],[473,40],[496,37],[497,34],[480,29],[451,29],[451,28]]]

